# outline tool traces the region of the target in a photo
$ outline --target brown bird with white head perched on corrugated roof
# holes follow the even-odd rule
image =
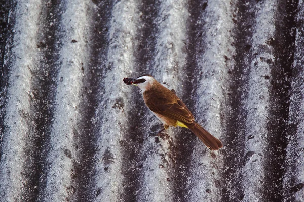
[[[177,97],[175,91],[160,84],[150,74],[143,74],[137,78],[124,78],[123,81],[127,85],[135,85],[141,89],[144,103],[162,122],[164,129],[168,129],[169,126],[188,128],[210,150],[218,150],[223,147],[216,137],[195,121],[194,116]]]

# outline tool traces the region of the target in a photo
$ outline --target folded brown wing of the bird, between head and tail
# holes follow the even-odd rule
[[[163,86],[162,86],[163,87]],[[160,87],[159,87],[160,88]],[[192,123],[194,117],[187,106],[172,91],[163,87],[154,92],[145,92],[145,103],[148,108],[165,117],[181,121],[183,123]]]

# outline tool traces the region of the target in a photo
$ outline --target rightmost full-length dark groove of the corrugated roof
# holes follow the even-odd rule
[[[293,3],[292,3],[293,2]],[[267,201],[283,201],[283,179],[288,138],[288,117],[294,56],[295,11],[297,1],[280,1],[276,12],[275,35],[268,43],[274,48],[275,60],[271,67],[269,120],[267,130],[266,179],[263,198]],[[282,34],[283,33],[283,34]],[[265,77],[267,79],[268,77]]]

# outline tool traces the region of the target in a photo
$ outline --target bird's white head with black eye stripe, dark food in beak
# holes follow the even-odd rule
[[[149,74],[141,75],[135,79],[133,78],[124,78],[123,80],[127,85],[136,85],[138,86],[143,92],[146,91],[151,87],[151,85],[156,82],[153,76]]]

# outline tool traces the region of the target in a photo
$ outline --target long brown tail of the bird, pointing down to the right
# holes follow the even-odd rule
[[[192,124],[185,124],[202,142],[210,148],[210,150],[218,150],[223,147],[222,143],[211,135],[207,130],[200,126],[197,122]]]

